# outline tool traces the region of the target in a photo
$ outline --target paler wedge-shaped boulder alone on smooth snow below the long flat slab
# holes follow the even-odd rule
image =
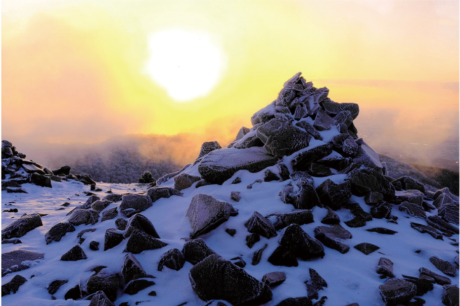
[[[195,195],[186,214],[193,229],[190,237],[193,239],[213,230],[227,221],[234,212],[231,204],[220,202],[209,195]]]

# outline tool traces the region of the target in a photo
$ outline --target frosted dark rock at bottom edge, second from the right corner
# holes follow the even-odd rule
[[[390,278],[379,286],[380,295],[387,306],[404,304],[417,292],[416,285],[399,278]]]

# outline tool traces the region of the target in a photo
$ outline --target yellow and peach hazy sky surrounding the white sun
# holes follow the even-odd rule
[[[206,33],[226,55],[207,96],[177,103],[146,74],[149,37],[169,29]],[[4,0],[2,138],[231,140],[298,71],[333,100],[359,103],[360,116],[386,107],[417,108],[408,124],[440,110],[458,117],[458,29],[458,1]]]

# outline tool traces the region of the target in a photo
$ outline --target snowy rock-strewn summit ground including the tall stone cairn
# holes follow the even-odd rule
[[[358,114],[298,73],[227,147],[98,189],[2,141],[2,301],[458,305],[458,197],[390,176]]]

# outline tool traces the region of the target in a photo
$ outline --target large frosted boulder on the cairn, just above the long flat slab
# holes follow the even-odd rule
[[[257,138],[264,143],[268,154],[277,157],[289,156],[308,146],[310,134],[287,120],[273,118],[256,130]]]

